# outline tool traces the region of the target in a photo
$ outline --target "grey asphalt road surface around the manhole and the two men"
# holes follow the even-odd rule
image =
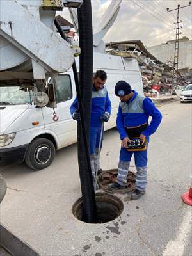
[[[180,198],[190,184],[192,104],[175,101],[159,109],[163,122],[150,140],[147,193],[136,201],[119,196],[124,211],[116,220],[88,224],[72,215],[81,197],[75,144],[57,152],[45,170],[0,166],[8,184],[1,223],[45,256],[192,255],[192,207]],[[116,168],[119,151],[112,129],[102,149],[104,170]],[[134,170],[134,162],[131,166]]]

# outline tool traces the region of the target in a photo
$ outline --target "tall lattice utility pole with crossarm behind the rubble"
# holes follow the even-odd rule
[[[182,28],[182,26],[180,26],[180,23],[182,22],[182,20],[179,20],[179,10],[185,7],[191,6],[191,1],[189,2],[188,5],[186,6],[180,6],[180,4],[178,4],[177,8],[170,10],[169,8],[166,8],[167,12],[172,12],[177,10],[177,22],[174,22],[174,24],[176,24],[176,34],[175,34],[175,52],[174,52],[174,61],[173,61],[173,77],[176,74],[176,80],[178,80],[178,63],[179,63],[179,35],[181,34],[181,32],[179,33],[179,29]]]

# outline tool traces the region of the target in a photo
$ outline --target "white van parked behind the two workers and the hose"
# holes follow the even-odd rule
[[[114,93],[116,82],[125,80],[143,95],[141,73],[136,59],[97,52],[93,67],[93,72],[103,69],[108,74],[106,87],[112,113],[105,124],[107,130],[116,126],[119,104]],[[36,107],[29,92],[21,91],[19,86],[0,87],[0,163],[25,161],[30,168],[40,170],[52,163],[56,150],[77,141],[77,122],[72,120],[69,110],[76,97],[72,69],[57,76],[55,82],[58,121],[53,120],[51,108]]]

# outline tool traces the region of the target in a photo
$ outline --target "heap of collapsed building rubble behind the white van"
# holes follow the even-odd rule
[[[136,58],[140,65],[145,95],[156,97],[160,94],[175,94],[175,86],[186,83],[181,75],[173,77],[173,68],[154,57],[140,40],[110,42],[106,52],[123,58]]]

